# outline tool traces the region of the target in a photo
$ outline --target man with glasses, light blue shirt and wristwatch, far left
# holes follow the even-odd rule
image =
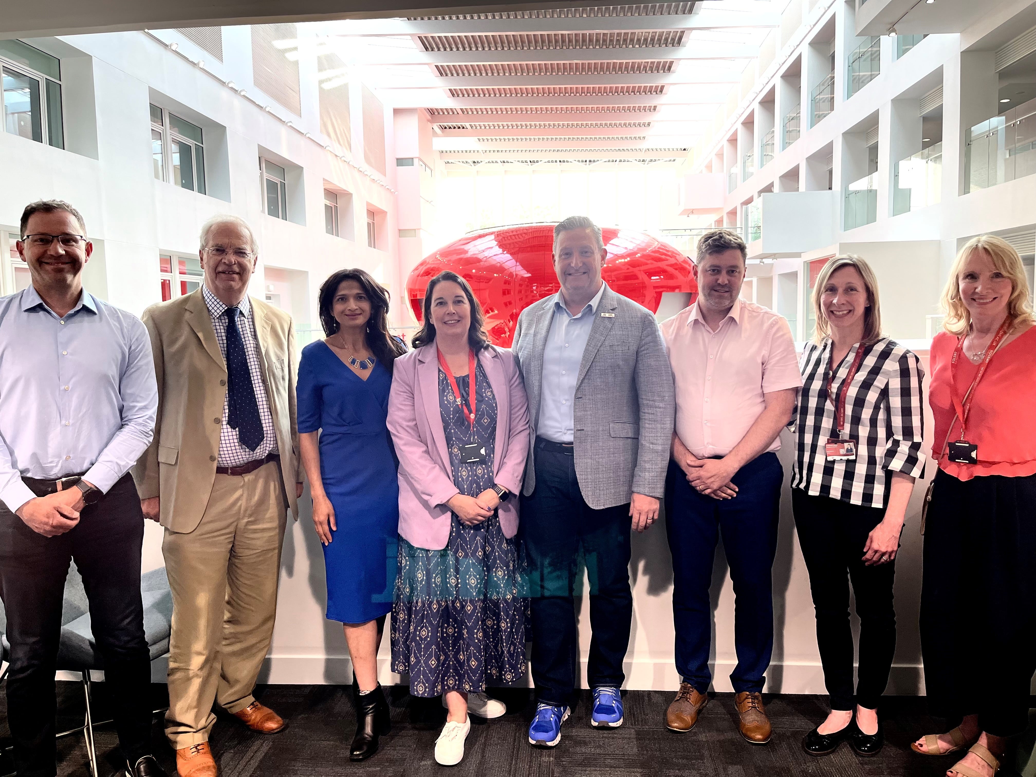
[[[151,754],[144,516],[128,474],[154,429],[150,340],[139,319],[83,288],[93,247],[71,205],[32,203],[21,237],[32,285],[0,298],[0,594],[15,761],[19,775],[56,774],[54,670],[75,559],[126,771],[165,775]]]

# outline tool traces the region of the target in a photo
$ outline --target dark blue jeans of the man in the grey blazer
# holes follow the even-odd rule
[[[570,453],[564,453],[564,451]],[[579,684],[577,581],[589,579],[592,688],[618,687],[630,643],[630,506],[594,510],[576,480],[572,448],[536,441],[536,490],[522,497],[519,537],[528,564],[537,700],[569,704]]]

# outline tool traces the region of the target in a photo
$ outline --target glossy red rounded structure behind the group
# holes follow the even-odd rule
[[[501,227],[467,235],[426,257],[406,282],[406,298],[422,320],[428,282],[451,269],[471,284],[490,339],[511,346],[518,314],[558,289],[550,256],[553,225]],[[608,251],[602,277],[611,289],[658,312],[662,294],[697,294],[691,261],[677,249],[625,229],[602,230]]]

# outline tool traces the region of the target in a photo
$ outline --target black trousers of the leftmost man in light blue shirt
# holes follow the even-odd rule
[[[71,560],[83,576],[123,755],[133,764],[151,752],[151,669],[140,596],[143,539],[144,516],[130,476],[58,537],[36,534],[0,502],[0,598],[10,643],[7,716],[20,777],[57,774],[54,672]]]

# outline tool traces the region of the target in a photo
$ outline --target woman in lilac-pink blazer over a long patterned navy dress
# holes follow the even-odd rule
[[[432,279],[414,350],[395,362],[388,431],[399,456],[393,670],[442,695],[435,759],[460,762],[468,713],[503,715],[489,683],[525,673],[528,597],[518,570],[518,494],[528,406],[511,351],[489,344],[479,301],[454,272]]]

